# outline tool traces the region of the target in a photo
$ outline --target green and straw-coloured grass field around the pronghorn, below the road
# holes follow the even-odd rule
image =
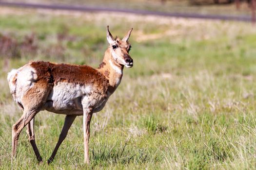
[[[93,116],[91,164],[83,163],[82,117],[46,164],[64,122],[46,111],[35,117],[44,164],[25,130],[11,162],[12,125],[22,113],[7,71],[29,60],[98,67],[106,25],[119,36],[134,28],[134,67]],[[0,169],[255,169],[255,42],[255,26],[241,22],[0,8]]]

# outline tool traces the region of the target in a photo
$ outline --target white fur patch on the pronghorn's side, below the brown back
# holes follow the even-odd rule
[[[56,110],[80,109],[81,101],[77,99],[89,95],[91,92],[91,85],[74,85],[67,82],[59,82],[53,87],[47,100],[53,101],[53,108]]]

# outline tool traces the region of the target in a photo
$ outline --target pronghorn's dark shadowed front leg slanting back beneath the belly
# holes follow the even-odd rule
[[[57,142],[57,144],[54,148],[54,151],[53,151],[51,157],[47,161],[48,164],[50,164],[53,161],[53,159],[54,159],[54,157],[55,157],[55,155],[56,155],[56,153],[59,149],[60,144],[66,138],[68,130],[69,130],[70,126],[72,125],[72,123],[74,122],[74,120],[76,119],[76,117],[77,116],[75,116],[75,115],[70,115],[70,116],[67,115],[66,116],[63,128],[62,128],[61,133],[59,135],[59,140],[58,140],[58,142]]]

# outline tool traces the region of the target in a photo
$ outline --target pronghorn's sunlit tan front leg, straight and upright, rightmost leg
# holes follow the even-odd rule
[[[89,164],[89,137],[90,137],[90,122],[93,113],[90,109],[83,109],[83,140],[84,140],[84,163]]]

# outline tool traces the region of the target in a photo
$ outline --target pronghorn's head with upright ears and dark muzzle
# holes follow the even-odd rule
[[[133,67],[133,59],[129,55],[129,51],[131,50],[131,45],[128,42],[128,39],[131,35],[133,29],[130,29],[122,40],[119,38],[114,39],[112,34],[109,32],[107,26],[107,40],[109,43],[109,49],[112,54],[113,59],[120,65],[125,66],[126,68]]]

